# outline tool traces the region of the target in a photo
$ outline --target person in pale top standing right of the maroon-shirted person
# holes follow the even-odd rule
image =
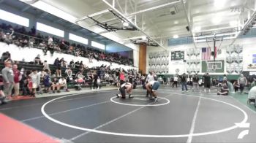
[[[32,83],[32,92],[31,96],[36,95],[36,90],[40,84],[40,76],[37,74],[37,69],[33,69],[31,74],[29,74],[29,77],[31,77],[31,83]]]

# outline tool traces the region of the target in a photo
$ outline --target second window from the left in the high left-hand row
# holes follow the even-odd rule
[[[53,35],[56,35],[56,36],[64,37],[64,31],[61,31],[58,28],[47,26],[43,23],[38,23],[37,22],[37,30],[46,32],[48,34],[53,34]]]

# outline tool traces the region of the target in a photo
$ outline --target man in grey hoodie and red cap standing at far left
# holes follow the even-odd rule
[[[14,75],[12,71],[12,63],[9,59],[4,62],[4,69],[1,70],[1,74],[4,82],[4,95],[7,98],[12,98],[12,88],[14,84]]]

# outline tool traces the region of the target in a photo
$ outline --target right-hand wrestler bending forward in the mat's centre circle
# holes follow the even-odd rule
[[[157,101],[157,89],[160,86],[159,81],[151,81],[146,84],[146,90],[148,90],[148,93],[151,94],[151,100]],[[154,96],[154,98],[152,97]]]

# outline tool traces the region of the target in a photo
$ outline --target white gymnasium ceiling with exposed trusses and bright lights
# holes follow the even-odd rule
[[[121,39],[146,36],[160,45],[167,45],[167,39],[193,36],[199,42],[199,36],[232,33],[243,29],[244,21],[255,12],[255,0],[39,0],[57,7],[76,18],[82,18],[105,9],[116,9],[141,31],[110,32]],[[113,3],[114,1],[114,3]],[[110,7],[108,4],[113,4]],[[170,4],[169,4],[170,3]],[[173,3],[173,4],[172,4]],[[165,5],[165,6],[164,6]],[[116,12],[116,11],[115,11]],[[133,14],[136,12],[137,14]],[[102,23],[116,23],[110,12],[93,18]],[[89,19],[88,28],[97,25]],[[187,30],[189,26],[189,30]],[[108,31],[100,31],[106,34]],[[198,37],[197,37],[198,36]],[[230,34],[230,37],[236,34]],[[237,37],[237,36],[236,36]],[[198,38],[200,39],[200,37]]]

